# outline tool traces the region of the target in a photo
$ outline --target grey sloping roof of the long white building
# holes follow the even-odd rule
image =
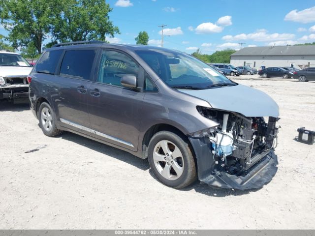
[[[315,45],[246,47],[231,56],[315,56]]]

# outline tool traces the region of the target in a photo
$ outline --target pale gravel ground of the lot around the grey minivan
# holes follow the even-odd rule
[[[280,106],[279,170],[263,188],[168,188],[147,160],[68,132],[46,137],[28,106],[2,102],[0,229],[314,229],[315,145],[294,137],[315,130],[315,82],[234,79]]]

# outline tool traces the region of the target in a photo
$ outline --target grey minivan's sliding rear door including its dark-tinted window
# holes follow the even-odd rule
[[[96,49],[67,50],[55,80],[55,105],[61,125],[89,134],[88,94]]]

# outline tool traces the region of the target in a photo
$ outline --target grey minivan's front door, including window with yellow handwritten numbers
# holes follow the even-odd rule
[[[101,52],[98,71],[91,84],[89,112],[94,136],[111,144],[137,150],[144,93],[125,88],[123,75],[143,80],[143,69],[129,55],[116,50]]]

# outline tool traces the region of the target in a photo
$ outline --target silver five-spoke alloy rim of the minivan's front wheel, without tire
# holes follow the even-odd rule
[[[168,180],[178,179],[183,174],[183,154],[174,143],[168,140],[157,143],[153,152],[153,161],[158,173]]]

